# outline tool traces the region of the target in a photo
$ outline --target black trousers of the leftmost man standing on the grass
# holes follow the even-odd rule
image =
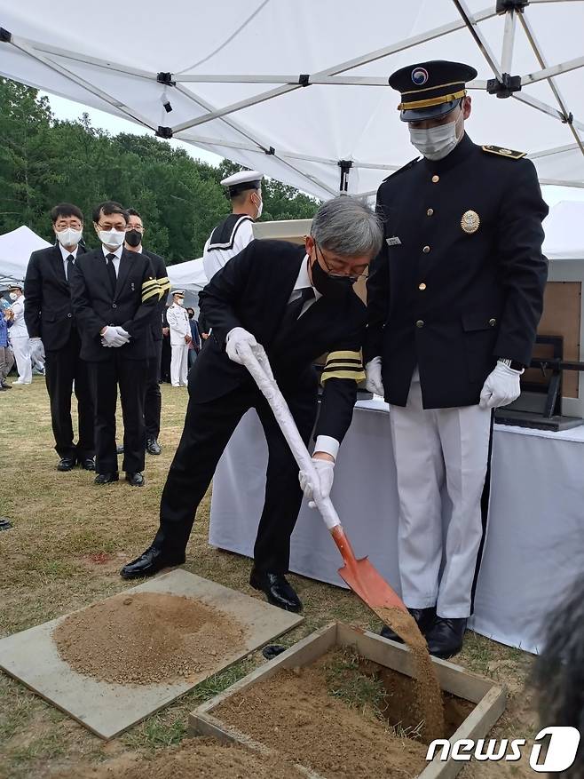
[[[93,400],[87,362],[80,356],[81,341],[77,330],[71,329],[67,344],[61,349],[47,349],[44,380],[51,401],[52,433],[59,457],[93,457]],[[79,440],[73,442],[73,421],[71,419],[71,394],[75,382],[77,398],[77,420]]]

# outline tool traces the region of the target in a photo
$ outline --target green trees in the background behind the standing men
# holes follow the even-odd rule
[[[241,170],[195,160],[183,148],[148,135],[112,136],[83,114],[60,122],[47,98],[0,79],[0,234],[28,225],[53,241],[49,211],[75,203],[84,238],[97,245],[91,213],[104,200],[139,211],[145,245],[169,264],[201,257],[213,227],[230,211],[221,179]],[[310,219],[318,203],[294,187],[264,180],[263,220]]]

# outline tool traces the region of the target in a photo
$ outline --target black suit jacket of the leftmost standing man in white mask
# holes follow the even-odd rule
[[[80,245],[77,258],[84,252]],[[75,317],[58,243],[33,251],[30,255],[24,280],[24,297],[24,320],[30,338],[43,338],[44,348],[48,351],[65,346]]]

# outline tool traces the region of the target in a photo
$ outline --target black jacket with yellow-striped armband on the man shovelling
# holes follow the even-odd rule
[[[316,434],[342,441],[351,425],[357,383],[364,378],[360,350],[367,310],[349,288],[340,300],[317,300],[293,330],[282,333],[280,322],[305,256],[304,247],[292,243],[253,241],[213,276],[201,308],[212,332],[191,369],[191,400],[213,401],[253,384],[248,370],[225,354],[227,333],[242,327],[264,346],[274,378],[288,398],[313,390],[316,403],[313,362],[329,353]]]

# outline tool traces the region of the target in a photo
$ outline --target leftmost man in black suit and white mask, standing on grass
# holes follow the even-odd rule
[[[33,251],[24,282],[24,318],[31,349],[44,346],[45,381],[51,401],[52,432],[60,457],[58,471],[70,471],[79,463],[95,470],[93,461],[93,401],[87,363],[79,353],[81,339],[71,304],[69,278],[77,256],[84,253],[83,213],[71,203],[59,203],[51,211],[57,243]],[[73,442],[71,394],[75,383],[79,441]]]

